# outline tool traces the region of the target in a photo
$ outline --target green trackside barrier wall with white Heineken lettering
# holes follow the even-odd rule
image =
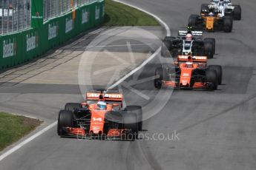
[[[30,61],[104,20],[104,0],[76,7],[45,22],[42,4],[43,0],[31,1],[30,29],[0,35],[0,69]]]

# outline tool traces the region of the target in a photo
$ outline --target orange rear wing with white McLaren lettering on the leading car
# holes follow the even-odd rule
[[[116,101],[122,102],[123,95],[120,93],[87,92],[86,101]]]

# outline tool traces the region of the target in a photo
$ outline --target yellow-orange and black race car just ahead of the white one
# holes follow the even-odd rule
[[[232,16],[223,16],[219,11],[207,9],[199,15],[191,15],[188,18],[188,27],[203,29],[206,31],[223,30],[231,33],[233,29]]]

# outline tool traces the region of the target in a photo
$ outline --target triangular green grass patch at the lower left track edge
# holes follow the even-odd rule
[[[0,112],[0,151],[27,135],[40,123],[39,120]]]

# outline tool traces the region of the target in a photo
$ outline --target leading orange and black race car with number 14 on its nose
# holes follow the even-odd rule
[[[59,112],[58,135],[100,139],[134,140],[142,130],[142,107],[123,107],[119,92],[96,89],[86,101],[67,103]]]

